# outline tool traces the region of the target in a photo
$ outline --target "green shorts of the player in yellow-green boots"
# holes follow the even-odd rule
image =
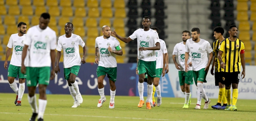
[[[180,86],[185,85],[193,85],[193,71],[179,71],[179,79],[180,79]]]

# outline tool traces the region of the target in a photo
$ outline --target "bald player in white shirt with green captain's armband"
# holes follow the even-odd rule
[[[104,95],[103,80],[108,74],[110,85],[110,103],[109,108],[115,107],[115,94],[116,94],[116,77],[117,77],[117,62],[116,55],[123,55],[120,43],[116,38],[111,35],[109,26],[102,27],[103,36],[99,36],[95,39],[95,63],[99,66],[97,68],[98,77],[98,91],[101,99],[98,101],[97,107],[101,107],[103,102],[106,101]],[[98,58],[98,54],[100,59]]]

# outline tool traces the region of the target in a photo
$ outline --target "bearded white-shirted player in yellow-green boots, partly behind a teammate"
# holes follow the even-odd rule
[[[185,94],[185,104],[182,108],[188,108],[191,103],[190,85],[193,85],[193,70],[192,67],[188,68],[188,72],[185,72],[185,51],[186,42],[190,38],[190,32],[187,30],[182,31],[182,42],[176,44],[173,48],[173,62],[176,69],[178,69],[180,89]],[[178,62],[176,61],[176,55],[178,55]],[[191,65],[191,54],[189,54],[188,65]]]

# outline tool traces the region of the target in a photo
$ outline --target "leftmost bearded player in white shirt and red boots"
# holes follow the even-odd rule
[[[16,106],[21,106],[21,99],[25,91],[26,74],[22,74],[20,72],[20,67],[21,67],[22,50],[24,47],[23,42],[26,39],[27,24],[24,22],[20,22],[18,24],[18,31],[19,32],[17,34],[11,35],[9,42],[7,44],[8,49],[5,56],[4,68],[7,69],[7,65],[8,65],[7,60],[10,56],[10,53],[13,47],[14,50],[12,51],[11,62],[10,62],[10,66],[8,67],[8,81],[9,81],[10,87],[16,93],[16,99],[14,104],[16,104]],[[19,88],[17,86],[17,83],[14,81],[17,75],[19,77]]]

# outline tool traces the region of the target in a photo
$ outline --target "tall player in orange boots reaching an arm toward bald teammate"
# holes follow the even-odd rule
[[[138,90],[140,95],[139,108],[142,108],[144,104],[143,90],[144,90],[144,77],[145,73],[148,75],[148,88],[147,88],[147,101],[146,109],[151,109],[150,101],[152,100],[153,93],[153,79],[156,76],[156,61],[155,50],[160,50],[160,41],[156,31],[150,29],[151,21],[150,17],[145,16],[142,19],[143,29],[138,29],[128,38],[123,38],[116,34],[115,31],[111,32],[112,36],[116,36],[118,39],[125,43],[138,38]]]

